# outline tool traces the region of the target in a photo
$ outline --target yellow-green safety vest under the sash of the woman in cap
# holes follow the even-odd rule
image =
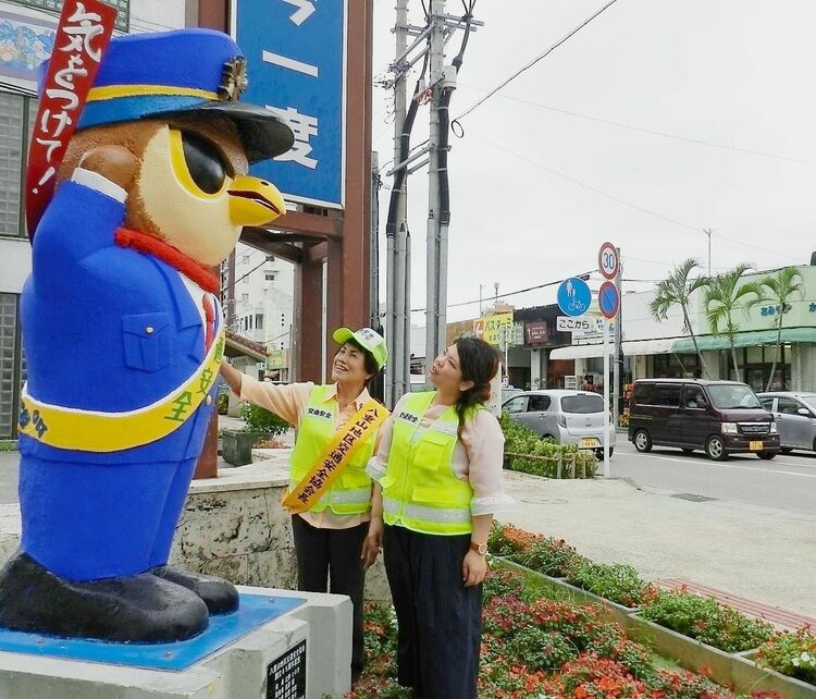
[[[290,490],[320,461],[334,437],[337,402],[331,397],[333,394],[332,385],[316,385],[309,393],[292,452]],[[309,512],[323,512],[329,507],[336,515],[362,515],[371,510],[371,477],[366,473],[366,464],[374,453],[375,439],[376,432],[363,442],[337,480]]]

